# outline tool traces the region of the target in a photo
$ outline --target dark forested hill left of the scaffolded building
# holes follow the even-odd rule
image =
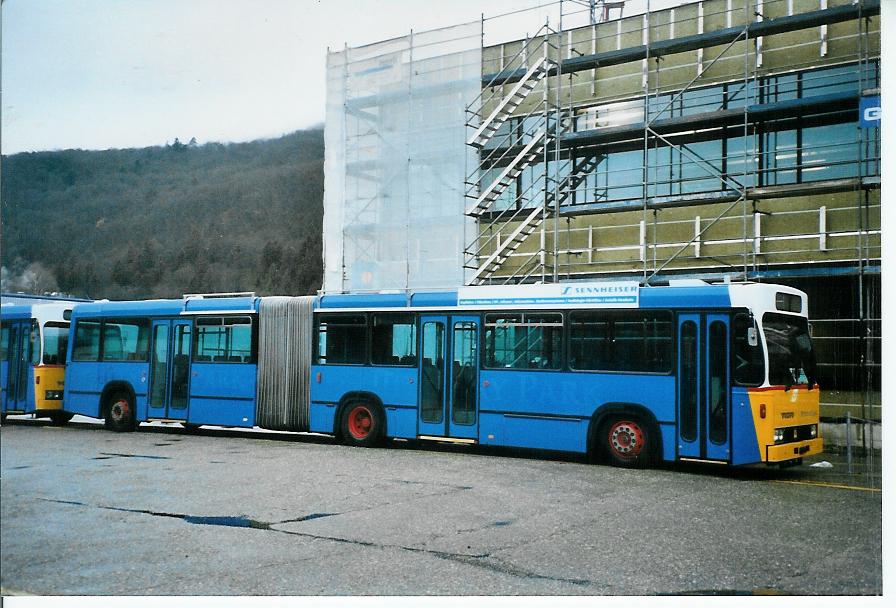
[[[323,131],[3,157],[3,291],[91,298],[320,286]]]

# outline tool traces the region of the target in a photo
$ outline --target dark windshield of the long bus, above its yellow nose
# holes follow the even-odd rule
[[[804,317],[766,313],[762,329],[768,345],[768,381],[787,388],[794,384],[815,385],[815,353]]]

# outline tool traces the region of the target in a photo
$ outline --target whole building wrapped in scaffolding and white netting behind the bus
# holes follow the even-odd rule
[[[879,420],[879,0],[632,4],[330,53],[324,289],[784,283]]]

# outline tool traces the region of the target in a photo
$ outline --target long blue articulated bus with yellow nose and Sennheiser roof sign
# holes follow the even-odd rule
[[[78,306],[65,410],[660,460],[820,453],[806,296],[629,282]]]

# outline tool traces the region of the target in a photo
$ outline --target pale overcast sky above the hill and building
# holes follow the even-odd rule
[[[645,2],[629,0],[626,14]],[[3,0],[2,152],[275,137],[323,122],[328,46],[544,3]],[[490,23],[519,38],[546,10]]]

